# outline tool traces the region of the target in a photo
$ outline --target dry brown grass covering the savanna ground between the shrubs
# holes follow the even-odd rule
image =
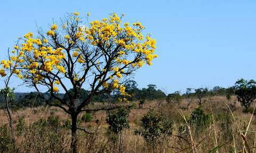
[[[138,102],[137,103],[138,106]],[[143,108],[132,109],[129,114],[130,128],[123,132],[122,152],[151,152],[151,147],[147,146],[141,136],[134,135],[134,129],[139,127],[140,118],[150,107],[158,109],[159,101],[147,101]],[[185,105],[186,100],[181,105]],[[254,104],[252,104],[254,106]],[[188,110],[179,109],[161,101],[159,111],[170,120],[174,121],[173,135],[158,143],[157,152],[254,152],[256,145],[256,120],[252,113],[243,112],[243,108],[237,102],[235,96],[231,100],[226,100],[223,96],[213,96],[205,98],[202,109],[212,114],[214,122],[200,133],[196,132],[196,127],[189,126],[185,120],[189,114],[198,107],[197,100],[193,99]],[[251,112],[253,108],[250,108]],[[46,128],[41,131],[33,129],[31,126],[39,118],[49,117],[52,112],[60,120],[69,119],[63,111],[58,108],[38,107],[26,108],[13,112],[13,119],[17,121],[19,117],[25,119],[27,127],[23,133],[15,137],[17,152],[69,152],[70,132],[64,128]],[[118,143],[115,136],[107,134],[107,124],[105,122],[106,112],[98,111],[92,114],[93,120],[90,123],[82,123],[81,126],[95,130],[95,134],[85,134],[79,131],[78,151],[79,152],[118,152]],[[100,119],[100,125],[95,122]],[[0,124],[8,123],[6,114],[0,111]],[[179,127],[187,125],[190,128],[188,133],[179,133]],[[246,132],[247,131],[247,132]],[[1,135],[0,131],[0,138]],[[118,139],[118,137],[116,138]],[[12,152],[10,150],[10,152]]]

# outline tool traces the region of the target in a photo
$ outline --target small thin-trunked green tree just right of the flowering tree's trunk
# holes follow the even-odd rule
[[[122,130],[130,127],[127,119],[128,115],[129,111],[124,107],[120,107],[119,109],[109,111],[106,119],[109,124],[109,130],[115,134],[120,132],[119,152],[121,152]]]

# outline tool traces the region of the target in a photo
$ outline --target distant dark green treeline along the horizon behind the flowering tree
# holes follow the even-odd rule
[[[162,91],[157,89],[157,86],[154,84],[147,85],[146,88],[138,88],[138,84],[134,80],[129,80],[125,83],[126,86],[126,93],[130,94],[131,96],[127,97],[127,100],[129,101],[139,101],[139,100],[159,100],[159,99],[165,99],[166,94]],[[203,92],[206,96],[212,96],[212,95],[233,95],[235,94],[236,88],[234,86],[224,88],[215,86],[211,90],[208,88],[187,88],[187,92],[181,94],[181,96],[187,96],[187,94],[190,95],[196,95],[196,92]],[[69,90],[70,93],[73,92],[72,89]],[[81,98],[79,99],[82,101],[87,97],[87,95],[90,93],[90,91],[82,90],[81,91]],[[180,92],[174,92],[175,94]],[[42,93],[44,96],[50,98],[49,93]],[[66,95],[59,93],[58,96],[60,98],[66,99]],[[119,91],[114,91],[111,94],[108,95],[97,95],[92,98],[93,102],[107,102],[108,100],[111,100],[112,102],[117,102],[118,98],[121,97],[121,94]],[[54,100],[54,99],[52,99]],[[38,93],[36,92],[30,92],[30,93],[15,93],[14,101],[11,103],[13,108],[22,108],[22,107],[38,107],[44,105],[45,102]],[[0,107],[4,107],[3,99],[1,97],[0,99]]]

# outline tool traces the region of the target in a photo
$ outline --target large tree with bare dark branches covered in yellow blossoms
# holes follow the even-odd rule
[[[155,39],[141,33],[145,27],[139,22],[121,25],[121,19],[113,13],[101,21],[84,23],[79,13],[69,14],[46,32],[39,29],[36,36],[28,33],[19,38],[10,60],[1,61],[2,76],[13,73],[25,84],[34,86],[39,94],[40,86],[47,87],[56,101],[41,94],[46,103],[70,115],[73,152],[77,152],[77,116],[89,110],[93,96],[113,90],[127,95],[123,85],[126,76],[145,63],[151,65],[157,57]],[[68,92],[68,85],[73,94]],[[90,86],[90,93],[81,101],[83,85]],[[59,88],[68,98],[58,96]],[[102,109],[105,108],[95,110]]]

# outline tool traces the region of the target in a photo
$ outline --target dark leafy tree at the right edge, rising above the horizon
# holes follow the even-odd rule
[[[237,80],[235,87],[237,99],[245,107],[245,111],[247,111],[256,98],[256,82],[253,79],[245,80],[242,78]]]

